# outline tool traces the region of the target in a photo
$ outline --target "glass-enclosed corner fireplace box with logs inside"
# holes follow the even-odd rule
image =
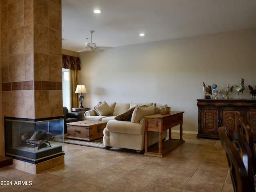
[[[37,164],[64,155],[64,117],[4,117],[5,154]]]

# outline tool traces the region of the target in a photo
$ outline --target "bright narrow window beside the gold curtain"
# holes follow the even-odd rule
[[[62,102],[63,106],[70,111],[70,86],[69,86],[69,69],[62,68]]]

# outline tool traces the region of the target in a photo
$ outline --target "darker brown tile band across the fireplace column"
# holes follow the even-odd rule
[[[2,83],[2,91],[18,90],[62,90],[62,82],[52,81],[20,81]]]

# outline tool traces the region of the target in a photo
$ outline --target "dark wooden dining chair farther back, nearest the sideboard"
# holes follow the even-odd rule
[[[238,132],[240,132],[249,143],[250,149],[252,151],[252,162],[254,167],[254,175],[256,175],[256,152],[253,140],[253,126],[248,117],[240,114],[240,112],[235,112],[236,119],[238,121]]]

